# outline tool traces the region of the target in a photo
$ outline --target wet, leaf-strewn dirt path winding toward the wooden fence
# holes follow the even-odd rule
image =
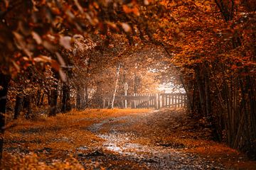
[[[196,154],[186,152],[186,148],[147,142],[139,144],[148,132],[139,132],[137,125],[149,125],[158,112],[140,113],[103,120],[90,126],[91,132],[105,140],[102,149],[116,152],[129,162],[144,164],[148,169],[224,169],[223,165],[210,162]],[[143,127],[141,127],[143,128]],[[150,131],[150,128],[148,129]],[[159,132],[156,131],[157,137]],[[181,145],[181,147],[183,147]]]

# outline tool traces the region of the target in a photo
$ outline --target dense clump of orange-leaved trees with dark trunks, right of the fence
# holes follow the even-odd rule
[[[178,70],[192,113],[215,139],[255,152],[255,6],[251,1],[160,1],[154,38]],[[154,20],[151,20],[154,21]]]

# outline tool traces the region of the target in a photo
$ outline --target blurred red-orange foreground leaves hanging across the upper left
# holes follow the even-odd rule
[[[0,1],[0,32],[4,33],[0,35],[0,49],[4,49],[6,44],[8,48],[4,49],[6,53],[0,54],[0,61],[16,62],[12,59],[12,52],[21,52],[33,61],[33,57],[46,51],[56,60],[55,52],[72,50],[73,35],[100,38],[95,33],[132,32],[138,23],[135,18],[140,16],[142,5],[150,2]],[[127,35],[132,40],[130,37]]]

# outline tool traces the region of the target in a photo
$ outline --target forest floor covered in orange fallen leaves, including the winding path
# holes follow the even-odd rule
[[[88,109],[9,123],[1,169],[256,169],[183,110]]]

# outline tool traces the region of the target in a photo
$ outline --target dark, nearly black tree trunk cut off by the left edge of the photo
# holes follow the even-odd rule
[[[0,73],[0,160],[4,147],[4,126],[10,77]]]

